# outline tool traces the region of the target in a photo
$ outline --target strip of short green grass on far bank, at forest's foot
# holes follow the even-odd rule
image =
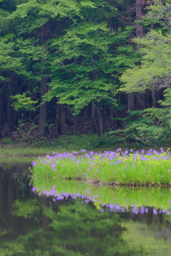
[[[8,138],[7,138],[8,139]],[[63,153],[65,151],[78,151],[81,149],[105,151],[114,150],[118,145],[111,138],[101,138],[97,134],[86,134],[83,136],[63,135],[56,140],[48,141],[45,138],[38,142],[11,142],[0,140],[0,157],[1,156],[41,156],[51,154],[53,151]],[[137,149],[138,145],[123,145],[123,149],[132,147]]]

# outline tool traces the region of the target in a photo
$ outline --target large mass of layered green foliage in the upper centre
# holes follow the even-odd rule
[[[54,78],[45,100],[59,97],[59,103],[73,107],[75,114],[93,101],[118,105],[114,99],[118,93],[118,76],[125,66],[133,63],[130,53],[133,49],[122,48],[120,41],[126,43],[131,31],[128,28],[115,33],[106,23],[83,21],[68,28],[60,39],[54,39],[51,47],[58,51],[53,57]],[[109,48],[115,50],[110,53]],[[112,80],[111,73],[115,73]]]

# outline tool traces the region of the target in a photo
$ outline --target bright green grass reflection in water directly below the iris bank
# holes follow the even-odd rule
[[[128,188],[128,187],[108,187],[108,186],[93,186],[89,183],[78,181],[56,181],[54,179],[33,178],[33,186],[38,191],[51,191],[51,188],[56,186],[55,190],[58,193],[69,193],[71,195],[80,193],[89,197],[95,197],[92,201],[95,206],[100,209],[100,204],[113,203],[123,207],[136,205],[153,206],[156,209],[167,210],[171,207],[171,192],[168,188]]]

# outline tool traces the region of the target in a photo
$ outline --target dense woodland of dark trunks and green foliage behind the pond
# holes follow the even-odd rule
[[[170,0],[0,0],[0,138],[170,145]]]

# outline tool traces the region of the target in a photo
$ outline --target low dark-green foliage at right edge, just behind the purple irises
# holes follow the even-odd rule
[[[108,132],[116,142],[132,142],[144,146],[170,146],[170,121],[166,120],[168,109],[148,108],[143,111],[129,111],[129,117],[120,119],[123,129]]]

